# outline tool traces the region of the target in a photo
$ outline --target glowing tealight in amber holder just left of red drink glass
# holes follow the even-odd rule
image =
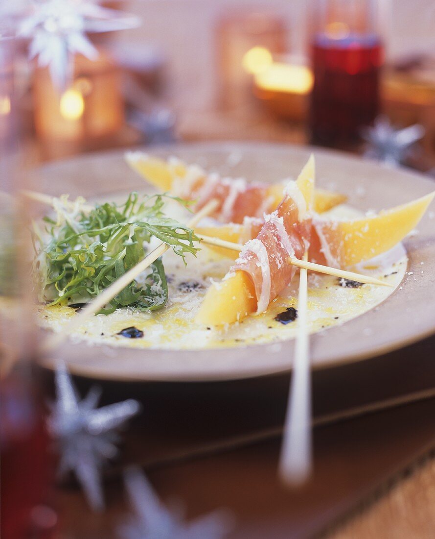
[[[306,118],[313,74],[303,65],[276,62],[257,73],[254,93],[271,112],[289,120]]]

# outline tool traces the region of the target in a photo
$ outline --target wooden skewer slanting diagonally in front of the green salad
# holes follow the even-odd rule
[[[188,222],[188,226],[193,228],[197,225],[203,217],[206,217],[212,213],[216,208],[218,208],[219,202],[215,199],[208,202],[204,208],[202,208],[198,213],[196,213],[192,219]],[[43,344],[43,351],[47,352],[57,348],[59,344],[65,340],[65,338],[78,329],[86,320],[92,317],[100,309],[102,309],[109,301],[117,294],[119,294],[126,286],[130,284],[131,281],[134,281],[136,277],[145,271],[148,266],[152,264],[155,260],[161,257],[168,249],[169,245],[166,243],[161,243],[153,251],[151,251],[146,257],[136,264],[136,266],[129,269],[127,273],[124,273],[122,277],[116,279],[110,286],[108,286],[104,291],[96,296],[91,302],[84,307],[80,313],[73,317],[71,322],[67,324],[62,329],[62,333],[55,333],[51,337],[47,338]]]

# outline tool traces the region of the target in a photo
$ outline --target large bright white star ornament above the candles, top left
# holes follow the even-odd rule
[[[48,66],[54,84],[65,88],[72,75],[72,57],[89,60],[98,51],[87,33],[125,30],[138,26],[139,19],[97,5],[98,0],[32,0],[31,11],[18,27],[18,35],[30,38],[29,57]]]

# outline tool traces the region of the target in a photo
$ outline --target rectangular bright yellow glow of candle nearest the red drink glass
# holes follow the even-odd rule
[[[264,90],[307,94],[313,86],[313,74],[306,66],[276,62],[258,73],[255,82]]]

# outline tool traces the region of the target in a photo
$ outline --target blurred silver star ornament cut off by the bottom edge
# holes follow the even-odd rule
[[[135,514],[118,530],[122,539],[223,539],[233,527],[233,519],[223,510],[184,522],[180,512],[162,504],[137,468],[128,469],[124,479]]]

